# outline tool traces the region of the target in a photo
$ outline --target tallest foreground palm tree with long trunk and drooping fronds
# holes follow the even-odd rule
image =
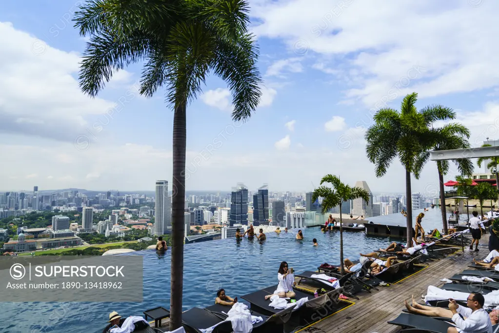
[[[90,36],[83,92],[96,96],[115,71],[144,62],[140,93],[164,88],[174,110],[170,331],[182,325],[186,108],[213,72],[232,92],[234,121],[250,118],[261,79],[248,10],[247,0],[88,0],[75,13],[80,35]]]

